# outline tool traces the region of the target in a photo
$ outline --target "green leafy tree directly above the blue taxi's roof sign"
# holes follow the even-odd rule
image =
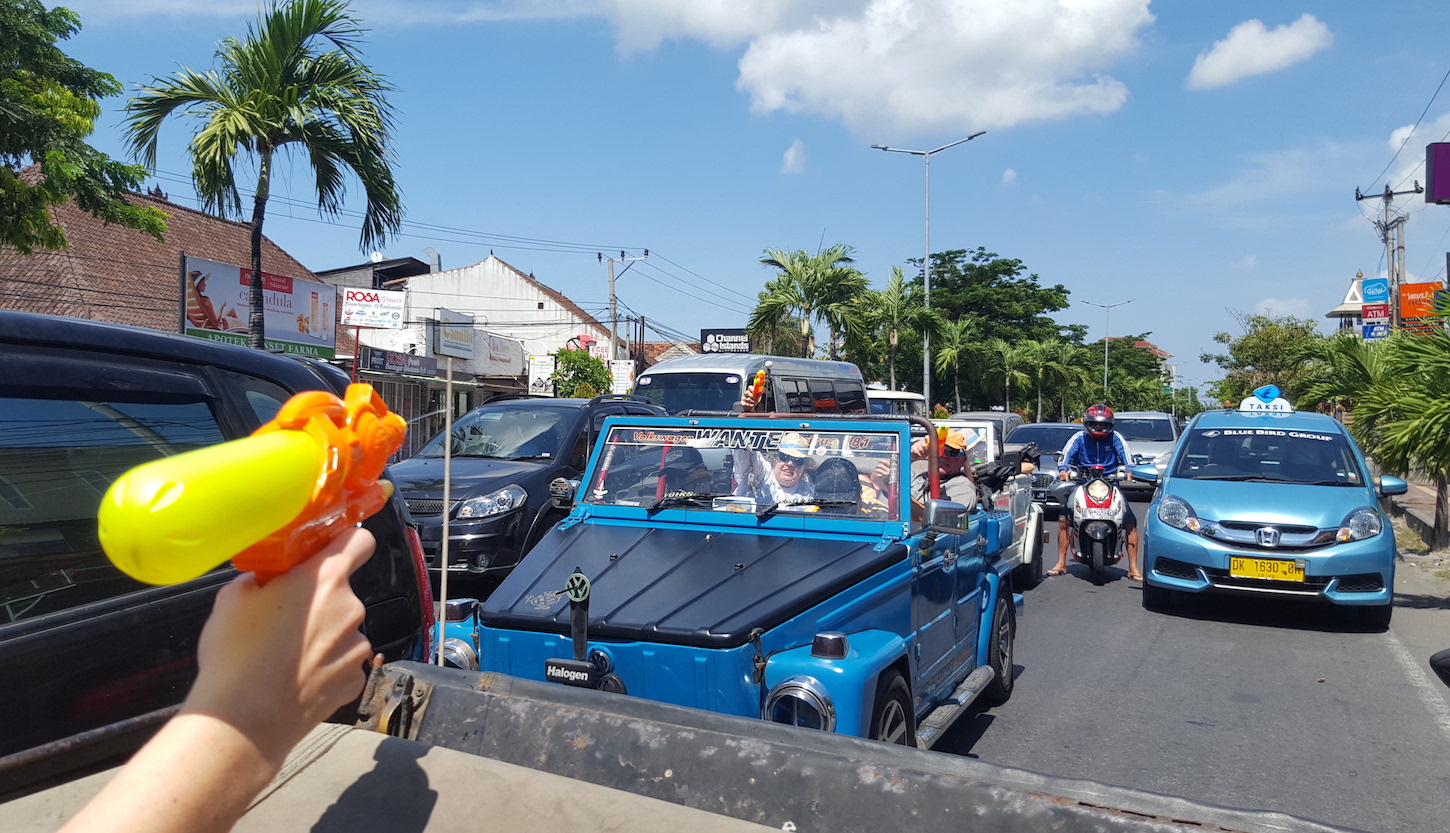
[[[1227,372],[1224,379],[1209,385],[1209,393],[1215,399],[1238,402],[1257,387],[1277,385],[1290,402],[1298,402],[1320,373],[1314,351],[1324,337],[1318,332],[1318,324],[1290,315],[1230,313],[1244,334],[1214,335],[1214,341],[1227,345],[1228,351],[1199,357]]]

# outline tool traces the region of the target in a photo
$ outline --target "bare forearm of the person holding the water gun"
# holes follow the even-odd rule
[[[62,833],[231,830],[280,768],[228,723],[181,713]]]

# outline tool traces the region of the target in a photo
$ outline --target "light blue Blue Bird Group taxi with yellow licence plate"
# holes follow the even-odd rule
[[[1132,476],[1160,480],[1154,466]],[[1241,592],[1353,605],[1388,627],[1395,534],[1376,479],[1344,427],[1298,412],[1266,386],[1238,409],[1199,414],[1173,451],[1143,524],[1143,605],[1177,592]]]

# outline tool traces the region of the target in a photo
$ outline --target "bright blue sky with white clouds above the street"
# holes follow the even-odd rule
[[[255,0],[71,0],[64,48],[128,90],[212,65]],[[884,284],[931,248],[986,247],[1072,290],[1057,313],[1150,331],[1179,380],[1240,332],[1230,311],[1331,322],[1357,270],[1383,273],[1380,192],[1424,181],[1450,134],[1436,0],[355,0],[367,58],[397,87],[403,234],[387,257],[490,251],[586,309],[596,254],[674,331],[744,327],[766,248],[845,244]],[[125,96],[93,141],[125,155]],[[1428,109],[1427,109],[1427,104]],[[1424,112],[1424,120],[1411,134]],[[193,125],[164,129],[158,183],[194,205]],[[1408,141],[1406,141],[1408,136]],[[1396,149],[1404,149],[1396,157]],[[1383,171],[1383,173],[1382,173]],[[354,189],[357,192],[357,189]],[[365,260],[357,221],[323,222],[302,167],[265,232],[313,270]],[[1411,280],[1443,280],[1450,208],[1401,197]]]

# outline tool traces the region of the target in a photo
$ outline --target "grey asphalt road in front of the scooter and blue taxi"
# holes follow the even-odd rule
[[[1425,665],[1450,647],[1450,582],[1402,563],[1393,625],[1373,631],[1264,598],[1153,612],[1125,565],[1112,576],[1093,586],[1073,565],[1028,591],[1012,699],[937,749],[1376,833],[1450,830],[1450,689]]]

